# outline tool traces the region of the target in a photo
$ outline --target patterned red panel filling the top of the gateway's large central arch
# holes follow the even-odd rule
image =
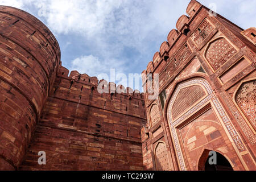
[[[205,95],[204,89],[199,85],[181,89],[172,106],[172,117],[175,119]]]

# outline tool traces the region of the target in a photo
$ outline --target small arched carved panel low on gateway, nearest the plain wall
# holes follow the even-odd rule
[[[166,144],[159,142],[155,148],[156,162],[158,163],[159,171],[168,171],[170,169],[169,160],[167,156]]]

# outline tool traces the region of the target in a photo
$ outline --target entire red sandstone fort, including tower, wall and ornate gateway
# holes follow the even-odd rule
[[[192,0],[142,72],[146,93],[113,96],[68,76],[42,22],[0,6],[0,169],[255,170],[256,28],[209,12]]]

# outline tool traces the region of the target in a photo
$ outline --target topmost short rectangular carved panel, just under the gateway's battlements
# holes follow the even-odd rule
[[[204,22],[201,23],[197,30],[192,34],[191,39],[196,43],[196,46],[199,47],[213,30],[214,27],[212,24],[205,19]]]

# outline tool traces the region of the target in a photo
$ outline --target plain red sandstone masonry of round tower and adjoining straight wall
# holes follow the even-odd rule
[[[144,95],[117,94],[113,83],[103,88],[112,94],[100,94],[96,77],[69,75],[57,40],[34,16],[0,6],[0,22],[0,169],[143,169]]]

